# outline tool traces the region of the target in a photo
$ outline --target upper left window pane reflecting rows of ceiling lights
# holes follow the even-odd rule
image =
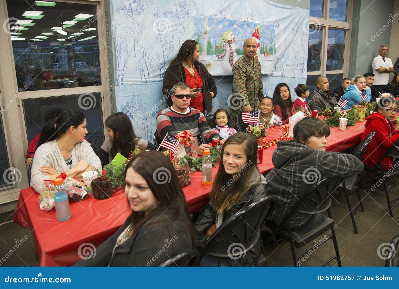
[[[7,0],[7,7],[18,90],[101,85],[95,5]]]

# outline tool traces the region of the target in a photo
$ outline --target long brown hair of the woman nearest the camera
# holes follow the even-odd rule
[[[168,157],[159,151],[145,151],[133,157],[126,166],[126,172],[130,168],[143,177],[158,201],[157,207],[147,215],[144,212],[132,211],[130,215],[130,223],[133,226],[131,234],[155,215],[160,215],[161,217],[156,220],[156,223],[170,222],[176,219],[184,220],[193,240],[194,229],[190,222],[183,189]]]

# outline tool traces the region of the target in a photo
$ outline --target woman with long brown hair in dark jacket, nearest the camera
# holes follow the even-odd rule
[[[158,266],[191,249],[186,199],[168,157],[139,153],[128,163],[125,181],[130,216],[94,257],[75,266]]]

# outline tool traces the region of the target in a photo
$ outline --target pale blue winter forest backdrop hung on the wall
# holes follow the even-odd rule
[[[231,65],[243,43],[255,38],[263,90],[272,96],[279,82],[306,83],[309,10],[249,0],[113,0],[117,111],[132,120],[137,136],[152,141],[155,119],[165,107],[162,80],[187,39],[199,43],[201,61],[214,76],[213,113],[227,108],[233,86]],[[292,95],[294,98],[294,96]]]

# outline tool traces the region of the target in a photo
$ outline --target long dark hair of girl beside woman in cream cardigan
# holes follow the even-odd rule
[[[109,151],[111,159],[119,152],[124,157],[129,157],[130,151],[136,148],[137,137],[134,134],[132,122],[127,114],[116,112],[105,120],[105,126],[114,133],[112,148]]]

